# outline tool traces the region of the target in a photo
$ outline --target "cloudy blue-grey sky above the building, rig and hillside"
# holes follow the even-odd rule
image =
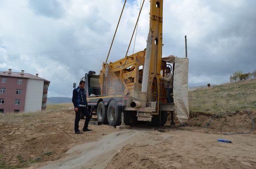
[[[0,71],[39,73],[51,81],[48,96],[70,97],[85,72],[99,73],[123,3],[0,0]],[[109,61],[124,57],[140,3],[128,0]],[[146,47],[149,4],[128,54]],[[189,86],[226,83],[236,70],[255,70],[255,6],[255,0],[164,0],[163,56],[185,57],[187,35]]]

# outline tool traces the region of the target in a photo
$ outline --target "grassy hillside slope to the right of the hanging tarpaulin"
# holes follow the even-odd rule
[[[188,92],[190,112],[256,110],[256,80],[227,83]]]

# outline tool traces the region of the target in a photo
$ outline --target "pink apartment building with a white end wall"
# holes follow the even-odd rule
[[[0,71],[0,113],[45,110],[49,85],[38,74]]]

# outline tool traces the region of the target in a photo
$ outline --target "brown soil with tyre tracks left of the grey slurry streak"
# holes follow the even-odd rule
[[[82,129],[84,120],[80,120]],[[108,125],[91,126],[93,132],[74,134],[74,112],[41,112],[0,117],[0,155],[7,164],[17,165],[20,155],[24,161],[60,159],[65,152],[81,143],[97,140],[116,128]]]

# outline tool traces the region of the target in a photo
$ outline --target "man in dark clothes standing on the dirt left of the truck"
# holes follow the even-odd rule
[[[78,130],[81,113],[86,117],[83,131],[84,132],[92,131],[88,129],[88,124],[92,116],[90,115],[90,112],[88,111],[88,108],[87,108],[86,91],[84,90],[84,86],[85,86],[85,82],[80,81],[79,86],[73,90],[72,102],[74,104],[74,107],[75,107],[74,110],[76,112],[76,119],[75,119],[76,134],[82,134],[82,132]]]

